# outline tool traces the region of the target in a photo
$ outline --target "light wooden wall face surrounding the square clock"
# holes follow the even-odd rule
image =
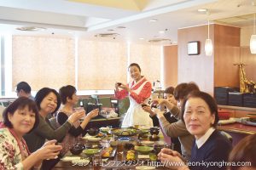
[[[213,26],[210,26],[210,38],[213,39]],[[195,26],[177,31],[178,39],[178,83],[195,82],[202,91],[213,94],[213,57],[204,51],[207,39],[207,26]],[[188,55],[188,42],[200,42],[200,54]]]

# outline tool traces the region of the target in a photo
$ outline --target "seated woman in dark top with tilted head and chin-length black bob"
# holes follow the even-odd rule
[[[61,127],[54,129],[54,127],[51,127],[49,119],[46,116],[58,111],[61,105],[60,95],[55,89],[41,88],[38,94],[36,94],[35,102],[39,110],[38,127],[24,136],[30,151],[38,150],[44,144],[45,139],[56,139],[58,142],[61,142],[73,126],[73,123],[84,116],[83,112],[76,112],[72,116],[69,116],[67,122],[62,124]]]

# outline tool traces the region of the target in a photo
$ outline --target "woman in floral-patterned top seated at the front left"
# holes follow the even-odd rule
[[[38,109],[32,99],[20,97],[3,111],[0,123],[0,169],[31,169],[44,159],[54,159],[62,149],[50,140],[32,154],[23,135],[38,127]]]

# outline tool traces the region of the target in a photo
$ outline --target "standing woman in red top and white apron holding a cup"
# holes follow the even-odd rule
[[[141,67],[137,63],[131,63],[128,67],[128,71],[132,78],[132,82],[128,85],[121,82],[115,83],[115,97],[117,99],[123,99],[126,96],[129,96],[130,99],[130,106],[125,113],[121,127],[131,127],[134,125],[152,127],[153,122],[148,116],[148,113],[143,111],[141,105],[143,103],[148,103],[152,85],[141,75]]]

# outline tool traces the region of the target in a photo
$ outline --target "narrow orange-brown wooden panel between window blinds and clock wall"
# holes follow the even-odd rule
[[[177,45],[164,47],[164,88],[177,86]]]

